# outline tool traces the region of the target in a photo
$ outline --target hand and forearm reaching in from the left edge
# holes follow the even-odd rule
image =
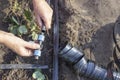
[[[14,36],[12,33],[0,31],[1,43],[16,52],[20,56],[32,56],[32,50],[39,49],[39,44],[26,42],[23,39]]]

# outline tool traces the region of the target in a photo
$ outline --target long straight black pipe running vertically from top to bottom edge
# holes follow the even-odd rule
[[[59,18],[58,0],[53,0],[54,5],[54,54],[53,54],[53,79],[58,80],[58,52],[59,52]]]

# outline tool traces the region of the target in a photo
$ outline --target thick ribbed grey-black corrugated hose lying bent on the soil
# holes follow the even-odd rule
[[[109,73],[107,69],[99,67],[93,61],[86,60],[83,53],[70,45],[66,45],[59,55],[74,64],[74,69],[80,75],[94,80],[120,80],[120,73],[115,71]],[[112,75],[114,79],[111,78]]]

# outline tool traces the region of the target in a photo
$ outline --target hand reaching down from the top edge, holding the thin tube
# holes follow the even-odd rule
[[[41,27],[43,21],[46,29],[50,29],[53,15],[52,8],[45,0],[33,0],[33,7],[38,25]]]

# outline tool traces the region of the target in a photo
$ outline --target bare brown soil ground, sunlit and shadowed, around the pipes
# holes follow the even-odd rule
[[[8,3],[8,0],[0,1],[2,30],[7,28],[7,24],[3,24],[2,19],[9,7]],[[84,52],[88,59],[106,67],[112,60],[112,31],[114,22],[120,15],[119,4],[119,0],[59,0],[60,44],[68,41]],[[3,45],[0,48],[1,63],[22,63],[19,57]],[[59,80],[91,80],[76,75],[62,59],[59,66]],[[31,70],[1,71],[0,78],[2,80],[33,80],[31,72]]]

